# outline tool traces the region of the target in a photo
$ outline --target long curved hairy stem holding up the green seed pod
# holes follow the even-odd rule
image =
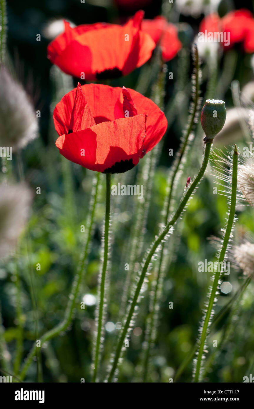
[[[198,183],[202,179],[202,177],[203,177],[203,175],[205,173],[205,170],[207,168],[210,151],[211,151],[211,142],[208,142],[206,144],[206,146],[205,146],[205,154],[204,154],[202,166],[200,168],[200,171],[198,172],[198,175],[193,180],[191,186],[189,187],[189,189],[187,190],[187,192],[183,196],[183,198],[182,198],[182,200],[181,200],[181,202],[180,202],[180,204],[178,206],[178,209],[175,211],[175,214],[173,215],[173,218],[168,222],[168,224],[166,225],[166,227],[164,228],[162,233],[157,237],[157,239],[151,245],[150,249],[147,252],[147,256],[146,256],[142,271],[141,271],[140,276],[139,276],[139,281],[137,283],[137,287],[135,289],[135,293],[134,293],[132,302],[130,304],[130,308],[129,308],[128,312],[127,312],[125,325],[124,325],[124,327],[123,327],[123,329],[121,331],[121,335],[119,336],[119,340],[117,342],[115,357],[114,357],[112,367],[111,367],[111,370],[110,370],[110,373],[109,373],[109,376],[108,376],[108,382],[112,382],[113,377],[115,375],[115,371],[117,369],[119,357],[121,355],[121,350],[122,350],[122,347],[123,347],[123,344],[124,344],[124,339],[126,337],[128,328],[130,327],[130,322],[133,319],[133,314],[135,312],[135,307],[136,307],[136,304],[137,304],[139,293],[140,293],[140,290],[142,288],[142,284],[144,282],[144,279],[145,279],[146,273],[148,271],[149,265],[151,263],[151,259],[152,259],[153,255],[155,254],[157,247],[161,244],[162,240],[164,240],[166,235],[169,233],[169,229],[175,224],[175,222],[181,216],[182,211],[184,210],[185,206],[187,205],[187,202],[188,202],[189,198],[191,197],[191,194],[196,189]]]

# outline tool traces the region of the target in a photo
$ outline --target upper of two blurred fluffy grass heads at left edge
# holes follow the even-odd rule
[[[22,86],[0,69],[0,145],[13,151],[26,146],[37,136],[36,113]]]

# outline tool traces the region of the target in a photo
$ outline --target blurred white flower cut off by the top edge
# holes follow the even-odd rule
[[[175,0],[177,11],[184,16],[199,17],[218,10],[221,0]]]

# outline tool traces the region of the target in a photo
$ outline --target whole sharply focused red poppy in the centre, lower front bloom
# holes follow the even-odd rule
[[[139,92],[99,84],[78,84],[53,117],[61,155],[103,173],[132,169],[167,127],[164,113]]]

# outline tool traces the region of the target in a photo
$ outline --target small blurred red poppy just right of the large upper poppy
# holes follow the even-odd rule
[[[174,58],[182,48],[182,43],[178,39],[177,28],[169,23],[165,17],[158,16],[154,20],[143,20],[142,31],[148,33],[156,44],[160,43],[164,61]]]

